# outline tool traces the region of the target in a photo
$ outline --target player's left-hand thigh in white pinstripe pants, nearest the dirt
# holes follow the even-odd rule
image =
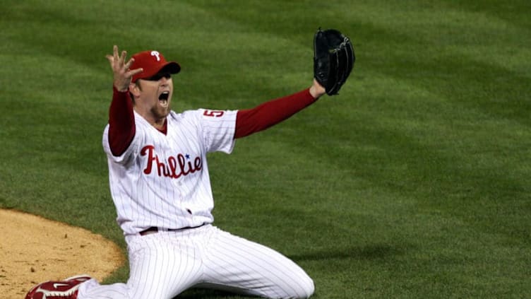
[[[129,242],[131,298],[173,298],[201,277],[196,249],[162,232]]]

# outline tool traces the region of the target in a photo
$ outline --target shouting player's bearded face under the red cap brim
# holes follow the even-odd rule
[[[138,81],[138,97],[135,99],[137,112],[155,122],[167,117],[173,94],[172,76],[160,73]]]

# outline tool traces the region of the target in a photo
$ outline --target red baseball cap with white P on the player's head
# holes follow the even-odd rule
[[[155,50],[136,53],[131,58],[134,58],[135,61],[129,69],[144,69],[144,71],[133,76],[131,79],[133,83],[138,79],[150,78],[160,71],[167,71],[169,74],[177,74],[181,71],[181,66],[177,62],[166,61],[164,56]]]

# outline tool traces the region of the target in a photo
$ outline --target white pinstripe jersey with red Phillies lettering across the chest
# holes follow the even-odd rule
[[[117,222],[124,234],[151,226],[212,223],[214,201],[206,154],[232,152],[237,111],[172,111],[167,134],[134,115],[136,132],[125,153],[111,153],[108,124],[102,140]]]

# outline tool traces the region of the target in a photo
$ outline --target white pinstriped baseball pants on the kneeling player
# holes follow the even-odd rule
[[[279,252],[213,225],[126,237],[127,283],[80,286],[78,299],[167,298],[214,288],[264,298],[309,298],[314,281]]]

